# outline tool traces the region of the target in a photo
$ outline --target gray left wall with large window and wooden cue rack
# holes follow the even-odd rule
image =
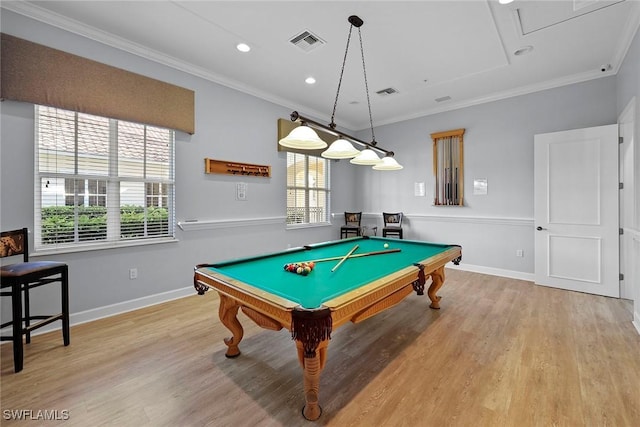
[[[277,119],[290,109],[227,87],[176,71],[164,65],[79,37],[21,15],[3,10],[2,31],[73,54],[105,62],[136,73],[180,85],[196,92],[196,133],[176,135],[176,215],[179,221],[218,221],[196,231],[177,230],[177,243],[137,246],[41,259],[69,263],[71,311],[81,313],[112,304],[167,293],[192,286],[193,266],[238,256],[326,241],[338,236],[335,227],[285,229],[286,155],[276,151]],[[34,108],[0,103],[0,228],[33,228]],[[272,166],[271,178],[206,175],[204,158],[234,160]],[[349,205],[354,171],[348,164],[332,165],[332,202],[336,209]],[[235,183],[248,183],[248,200],[235,200]],[[276,223],[261,219],[278,218]],[[238,223],[238,219],[246,221]],[[138,279],[129,280],[129,268]],[[49,292],[49,290],[39,290]],[[160,297],[162,299],[163,297]],[[34,298],[34,308],[51,298]],[[5,300],[5,298],[3,298]],[[153,302],[149,299],[148,302]],[[146,299],[124,308],[145,304]],[[3,301],[3,308],[7,308]],[[114,307],[113,311],[118,311]],[[10,310],[3,310],[3,318]],[[94,314],[109,314],[107,308]],[[76,316],[76,318],[81,318]]]

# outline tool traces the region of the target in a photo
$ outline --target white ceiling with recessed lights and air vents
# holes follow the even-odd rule
[[[327,123],[355,14],[364,21],[374,125],[615,74],[640,23],[639,0],[3,0],[2,7]],[[325,44],[305,52],[289,42],[304,30]],[[239,42],[251,51],[239,53]],[[533,51],[514,54],[524,46]],[[317,83],[307,85],[308,76]],[[398,92],[376,94],[390,87]],[[451,99],[436,101],[444,97]],[[335,122],[369,127],[356,29]]]

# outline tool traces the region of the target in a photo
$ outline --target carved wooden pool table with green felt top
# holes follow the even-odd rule
[[[210,288],[220,295],[220,321],[233,334],[224,340],[227,357],[240,355],[243,328],[238,309],[262,328],[291,331],[303,369],[302,414],[316,420],[322,413],[319,380],[331,332],[386,310],[413,291],[423,295],[428,277],[430,307],[440,308],[436,293],[444,283],[444,266],[450,261],[458,264],[461,258],[458,245],[354,237],[199,264],[194,286],[201,295]],[[284,268],[304,261],[315,262],[306,275]]]

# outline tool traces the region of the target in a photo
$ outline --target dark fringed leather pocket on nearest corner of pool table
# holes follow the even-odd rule
[[[331,339],[331,310],[296,310],[291,312],[291,338],[302,343],[305,357],[314,357],[320,342]]]

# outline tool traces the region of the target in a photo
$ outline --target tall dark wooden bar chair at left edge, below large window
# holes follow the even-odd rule
[[[0,258],[22,255],[22,262],[2,265],[0,296],[11,297],[11,321],[0,328],[12,326],[11,336],[0,337],[2,341],[13,341],[13,365],[15,372],[22,370],[24,349],[22,336],[27,344],[31,342],[31,332],[56,320],[62,320],[62,338],[69,345],[69,272],[67,264],[56,261],[29,261],[29,240],[26,228],[4,231],[0,235]],[[32,315],[30,312],[29,291],[31,289],[60,283],[62,311],[52,315]],[[5,290],[9,288],[10,290]],[[24,297],[24,299],[23,299]],[[24,314],[23,314],[24,303]],[[37,320],[31,323],[32,320]]]

